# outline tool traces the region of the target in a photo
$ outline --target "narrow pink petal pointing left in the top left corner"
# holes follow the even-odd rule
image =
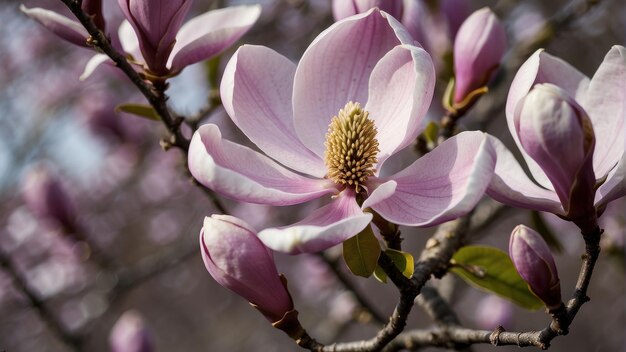
[[[68,42],[78,46],[87,47],[87,38],[89,37],[89,33],[87,33],[87,30],[83,27],[83,25],[77,21],[73,21],[54,11],[42,8],[29,9],[24,5],[20,5],[20,11],[25,13],[26,16],[39,22],[50,32],[58,35]]]

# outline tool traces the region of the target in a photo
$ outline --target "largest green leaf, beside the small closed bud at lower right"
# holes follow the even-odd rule
[[[509,256],[493,247],[467,246],[452,257],[451,271],[475,287],[506,298],[526,309],[544,306],[517,273]]]

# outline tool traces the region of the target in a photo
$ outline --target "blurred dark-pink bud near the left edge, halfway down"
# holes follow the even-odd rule
[[[61,225],[68,231],[76,229],[74,204],[46,167],[35,167],[26,175],[23,196],[26,206],[41,220]]]

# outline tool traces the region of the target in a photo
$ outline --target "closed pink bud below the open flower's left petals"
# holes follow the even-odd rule
[[[244,221],[228,215],[206,217],[200,248],[215,281],[247,299],[270,322],[293,310],[270,250]]]

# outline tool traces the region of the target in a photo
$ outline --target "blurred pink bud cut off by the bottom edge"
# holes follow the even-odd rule
[[[152,336],[138,312],[124,313],[111,329],[111,352],[152,352]]]

